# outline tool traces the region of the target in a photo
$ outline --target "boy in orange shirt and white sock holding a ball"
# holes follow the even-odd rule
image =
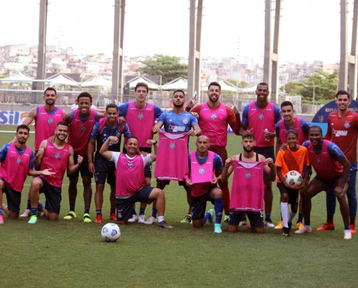
[[[283,221],[282,236],[290,236],[292,219],[297,213],[299,189],[305,188],[311,171],[308,150],[306,147],[298,145],[299,136],[295,130],[286,132],[285,143],[287,150],[279,150],[276,155],[276,181],[281,194],[281,216]],[[287,184],[284,176],[291,170],[300,172],[303,175],[303,168],[306,166],[305,176],[300,186]],[[290,215],[288,216],[287,207],[291,204]],[[275,227],[276,228],[276,227]]]

